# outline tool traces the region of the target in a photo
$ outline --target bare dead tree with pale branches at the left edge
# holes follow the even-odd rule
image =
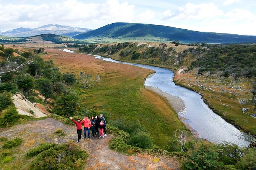
[[[2,83],[1,75],[5,75],[5,74],[13,72],[13,71],[18,72],[18,70],[22,66],[33,63],[33,59],[31,59],[28,62],[24,62],[20,65],[17,65],[17,61],[9,61],[10,57],[11,56],[9,55],[7,57],[7,60],[6,60],[5,64],[2,67],[0,67],[0,84]]]

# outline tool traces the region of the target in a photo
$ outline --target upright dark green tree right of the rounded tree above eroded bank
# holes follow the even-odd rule
[[[40,78],[36,80],[36,88],[44,95],[44,103],[47,102],[48,98],[53,96],[53,84],[48,78]]]

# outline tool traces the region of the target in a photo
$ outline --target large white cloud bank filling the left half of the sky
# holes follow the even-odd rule
[[[131,22],[134,5],[118,0],[103,3],[83,3],[67,0],[41,5],[0,5],[0,30],[14,27],[38,27],[44,24],[62,24],[80,27],[98,27],[112,22]]]

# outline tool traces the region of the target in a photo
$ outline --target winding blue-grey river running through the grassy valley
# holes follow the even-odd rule
[[[65,51],[73,52],[67,49],[65,49]],[[242,139],[242,133],[235,126],[226,122],[224,119],[222,119],[222,117],[209,109],[209,107],[207,107],[207,105],[201,99],[201,95],[187,88],[175,85],[173,82],[173,71],[161,67],[126,63],[97,55],[93,56],[105,61],[129,64],[154,70],[155,74],[145,80],[145,85],[156,87],[165,93],[169,93],[173,96],[181,98],[184,101],[185,109],[179,113],[179,115],[186,118],[184,121],[189,123],[194,132],[198,133],[200,138],[204,138],[212,143],[228,141],[239,146],[248,146],[249,143]]]

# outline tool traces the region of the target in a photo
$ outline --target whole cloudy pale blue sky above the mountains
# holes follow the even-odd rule
[[[97,29],[113,22],[256,35],[254,0],[0,0],[0,31],[46,24]]]

